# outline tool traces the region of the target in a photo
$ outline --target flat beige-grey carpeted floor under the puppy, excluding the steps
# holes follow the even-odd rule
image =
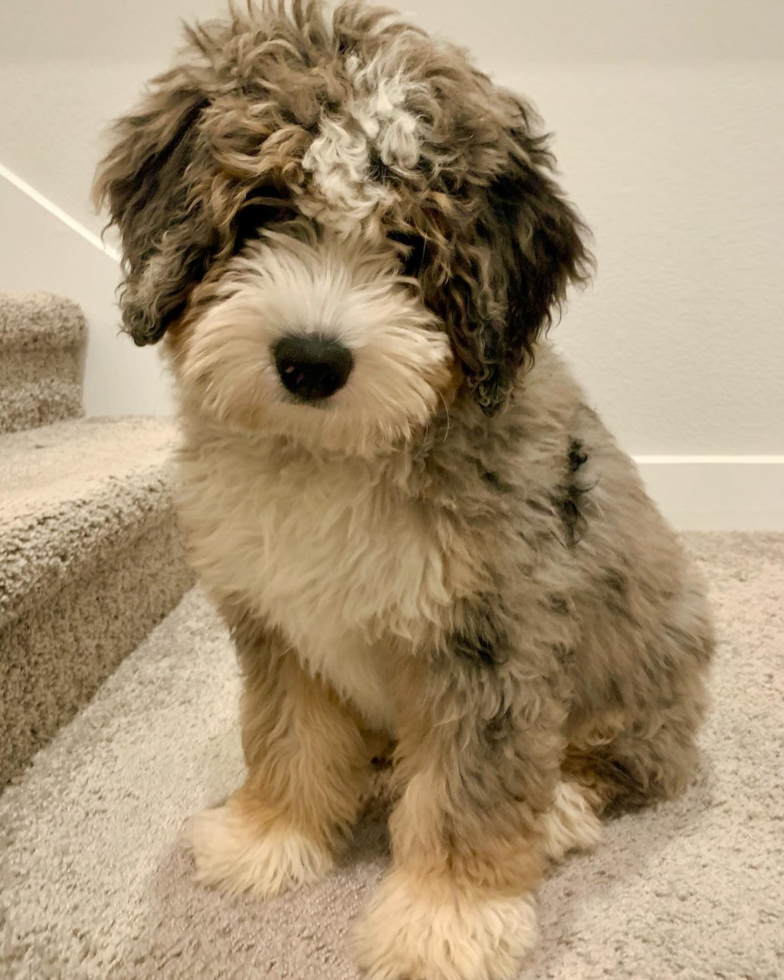
[[[553,872],[530,980],[784,976],[784,537],[687,540],[721,634],[703,772]],[[236,693],[192,592],[6,790],[0,976],[355,977],[345,935],[387,864],[382,821],[329,879],[266,905],[191,880],[183,823],[241,778]]]

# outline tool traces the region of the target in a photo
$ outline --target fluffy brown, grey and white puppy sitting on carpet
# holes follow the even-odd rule
[[[547,861],[696,762],[704,588],[542,339],[591,260],[535,126],[394,12],[265,3],[188,31],[96,185],[244,677],[198,876],[326,874],[393,741],[375,980],[512,976]]]

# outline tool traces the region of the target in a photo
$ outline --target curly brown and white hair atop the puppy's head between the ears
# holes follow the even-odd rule
[[[272,179],[341,232],[384,216],[407,224],[456,186],[481,192],[508,152],[506,93],[462,51],[383,11],[349,4],[330,23],[307,9],[307,25],[238,18],[229,36],[208,35],[207,129],[225,177]]]

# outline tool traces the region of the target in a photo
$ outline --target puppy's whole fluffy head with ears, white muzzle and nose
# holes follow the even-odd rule
[[[501,409],[584,228],[531,110],[389,10],[265,3],[188,30],[96,182],[125,329],[186,403],[372,449]]]

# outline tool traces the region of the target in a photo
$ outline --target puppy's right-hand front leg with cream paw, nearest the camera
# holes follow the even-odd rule
[[[393,867],[354,936],[373,980],[505,980],[534,944],[558,676],[548,651],[461,635],[401,672]]]

